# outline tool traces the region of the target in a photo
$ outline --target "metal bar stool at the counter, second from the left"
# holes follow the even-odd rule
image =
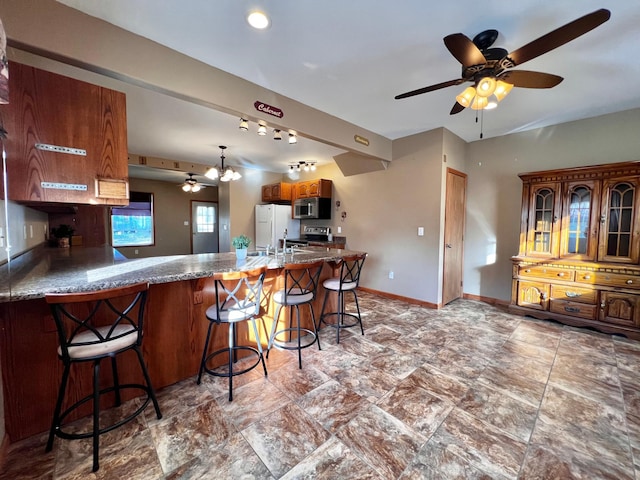
[[[209,320],[209,328],[207,330],[207,338],[204,342],[202,351],[202,361],[200,362],[200,371],[198,372],[197,384],[202,381],[202,373],[207,372],[215,377],[229,378],[229,401],[233,400],[233,377],[242,375],[253,370],[262,362],[264,375],[267,376],[267,366],[264,363],[262,355],[262,345],[260,344],[260,335],[256,325],[256,317],[260,314],[260,298],[262,296],[262,285],[267,267],[260,267],[249,271],[242,272],[223,272],[216,273],[213,276],[215,284],[216,303],[207,308],[205,313]],[[251,321],[253,332],[256,336],[256,346],[238,345],[236,325],[239,322]],[[207,355],[209,350],[209,342],[211,341],[211,332],[214,325],[222,323],[228,324],[228,340],[227,347],[216,350]],[[249,351],[257,355],[255,363],[234,371],[233,365],[238,361],[239,351]],[[207,363],[218,355],[226,353],[228,355],[228,371],[220,372],[207,367]]]

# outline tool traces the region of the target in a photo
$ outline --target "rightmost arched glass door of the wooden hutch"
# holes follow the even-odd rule
[[[604,180],[598,260],[638,263],[638,178]]]

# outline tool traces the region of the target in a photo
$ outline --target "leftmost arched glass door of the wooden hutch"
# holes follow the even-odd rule
[[[557,183],[531,187],[527,251],[530,256],[556,257],[559,253],[560,188]]]

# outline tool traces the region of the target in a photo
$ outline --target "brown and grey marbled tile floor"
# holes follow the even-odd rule
[[[158,392],[101,439],[12,445],[0,478],[640,479],[640,343],[458,300],[361,294],[365,335]],[[138,420],[137,419],[137,420]]]

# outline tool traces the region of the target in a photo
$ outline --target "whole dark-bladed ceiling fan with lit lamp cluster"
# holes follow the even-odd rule
[[[555,87],[563,80],[558,75],[511,69],[584,35],[609,20],[610,16],[609,10],[596,10],[510,53],[503,48],[490,48],[498,38],[497,30],[485,30],[476,35],[473,41],[462,33],[447,35],[444,37],[444,44],[462,64],[462,77],[402,93],[396,95],[395,99],[473,82],[472,87],[468,87],[456,97],[456,103],[450,112],[450,115],[454,115],[467,107],[474,110],[495,107],[513,87]],[[495,101],[490,102],[489,98],[492,95]]]

